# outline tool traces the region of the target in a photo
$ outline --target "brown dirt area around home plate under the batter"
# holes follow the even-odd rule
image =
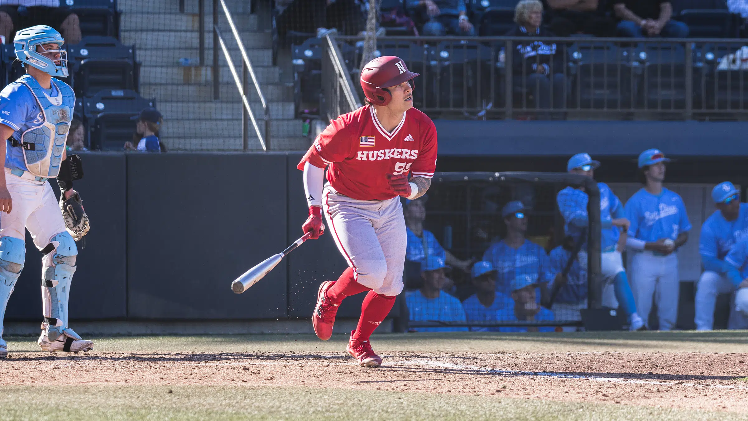
[[[642,346],[632,351],[599,351],[595,348],[603,345],[585,345],[583,337],[576,345],[550,347],[577,348],[576,351],[533,351],[522,347],[506,351],[503,346],[506,341],[500,335],[493,336],[492,340],[483,336],[476,340],[474,347],[468,346],[470,336],[459,336],[460,340],[468,342],[456,348],[468,346],[475,351],[438,351],[434,348],[450,349],[450,339],[423,336],[423,341],[417,341],[423,342],[421,349],[388,352],[387,348],[400,348],[387,346],[397,343],[400,336],[387,336],[380,341],[375,336],[375,350],[384,357],[384,366],[380,369],[363,369],[343,355],[343,336],[325,342],[322,350],[316,352],[310,348],[319,349],[319,345],[308,336],[287,336],[286,341],[272,339],[265,344],[257,344],[251,338],[244,342],[232,339],[235,343],[242,342],[241,346],[233,347],[239,348],[233,352],[225,351],[232,348],[230,343],[203,347],[208,348],[206,351],[190,351],[188,339],[184,341],[184,351],[174,352],[180,347],[167,342],[162,347],[166,349],[146,352],[137,342],[129,347],[110,346],[116,343],[112,339],[102,342],[102,351],[76,356],[32,351],[32,344],[19,352],[13,352],[11,347],[7,360],[0,361],[0,378],[4,386],[343,388],[640,405],[736,415],[748,414],[748,381],[745,378],[748,354],[703,350],[734,349],[736,345],[743,348],[745,336],[746,333],[738,333],[727,345],[710,339],[706,346],[704,341],[697,340],[699,337],[688,340],[683,336],[682,341],[675,342],[682,342],[684,352],[641,351],[640,348],[649,348]],[[531,341],[527,336],[526,348],[535,348],[538,338]],[[589,342],[598,339],[589,336]],[[154,338],[144,340],[158,343]],[[511,341],[521,343],[521,336],[513,336]],[[657,348],[657,343],[649,345]],[[677,347],[678,343],[662,348]],[[702,351],[687,352],[689,343]],[[340,349],[334,351],[337,347]],[[132,351],[116,348],[131,348]],[[488,348],[504,350],[488,351]],[[584,351],[585,348],[588,351]]]

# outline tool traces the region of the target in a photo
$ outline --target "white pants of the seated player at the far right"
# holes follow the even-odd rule
[[[717,295],[734,293],[735,285],[732,285],[727,276],[711,270],[705,270],[696,284],[696,330],[712,330],[714,328],[714,307],[717,306]],[[736,301],[735,294],[730,299],[730,318],[728,329],[748,329],[748,317],[738,311],[740,304]],[[746,305],[748,303],[743,303]]]

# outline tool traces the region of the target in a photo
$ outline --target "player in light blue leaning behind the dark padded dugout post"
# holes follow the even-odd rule
[[[599,161],[592,160],[589,154],[576,154],[569,158],[566,163],[566,171],[572,174],[595,177],[595,169],[600,166]],[[613,194],[610,187],[604,183],[598,183],[600,190],[600,219],[601,219],[601,270],[606,284],[613,284],[616,300],[626,312],[629,330],[641,330],[644,321],[637,312],[637,304],[631,286],[628,285],[628,276],[623,268],[621,252],[625,246],[625,235],[620,230],[628,228],[629,222],[625,218],[624,208],[621,201]],[[559,210],[565,221],[565,231],[571,237],[578,238],[581,231],[589,225],[587,216],[587,203],[589,196],[583,187],[574,189],[565,187],[556,196]],[[610,300],[613,301],[613,300]]]

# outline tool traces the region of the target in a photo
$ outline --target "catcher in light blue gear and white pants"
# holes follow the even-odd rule
[[[64,40],[46,25],[16,32],[16,56],[26,74],[0,92],[0,322],[25,260],[25,230],[31,232],[42,258],[43,351],[78,352],[93,348],[67,326],[70,281],[78,249],[67,231],[48,178],[60,174],[65,143],[76,103],[67,77]],[[65,181],[59,179],[61,185]],[[64,192],[64,198],[77,193]],[[85,234],[85,233],[84,233]],[[0,330],[1,332],[1,330]],[[0,339],[0,357],[7,345]]]

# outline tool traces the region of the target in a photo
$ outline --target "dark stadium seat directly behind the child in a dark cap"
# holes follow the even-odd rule
[[[135,121],[141,109],[156,106],[130,90],[100,91],[83,100],[83,113],[88,126],[91,149],[121,151],[125,142],[132,141]]]

